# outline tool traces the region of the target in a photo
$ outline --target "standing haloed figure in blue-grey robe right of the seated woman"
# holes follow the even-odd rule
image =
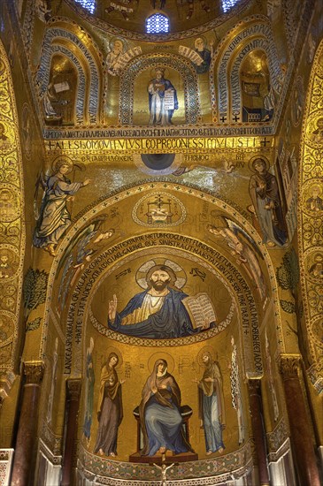
[[[211,353],[205,351],[202,356],[204,374],[198,385],[198,409],[201,426],[204,428],[206,454],[223,452],[225,446],[222,430],[226,416],[223,398],[223,380],[219,365],[212,361]]]

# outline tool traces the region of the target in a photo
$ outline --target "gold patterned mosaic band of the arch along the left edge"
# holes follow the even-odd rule
[[[19,345],[19,308],[23,278],[26,230],[24,186],[19,143],[19,124],[12,75],[4,46],[0,42],[1,125],[0,140],[2,185],[0,195],[0,289],[1,289],[1,365],[0,375],[11,386]]]

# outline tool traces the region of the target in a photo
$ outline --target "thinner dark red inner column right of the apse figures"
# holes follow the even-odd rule
[[[259,484],[269,486],[269,474],[267,468],[267,454],[265,448],[265,430],[262,417],[262,402],[260,395],[260,380],[249,380],[250,414],[252,435],[255,441],[255,452],[258,463]]]

